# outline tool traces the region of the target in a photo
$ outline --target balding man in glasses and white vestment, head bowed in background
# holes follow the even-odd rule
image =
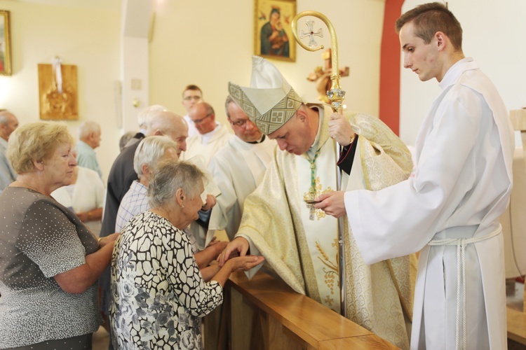
[[[215,121],[215,112],[210,104],[199,102],[191,109],[189,116],[194,121],[198,134],[188,139],[188,149],[182,159],[189,160],[201,155],[208,167],[210,158],[232,137],[224,125]]]

